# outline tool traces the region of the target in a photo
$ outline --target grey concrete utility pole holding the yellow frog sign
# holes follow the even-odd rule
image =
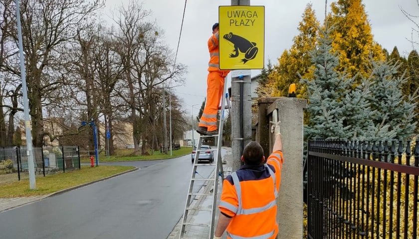
[[[231,0],[231,5],[250,5],[250,0]],[[250,79],[250,75],[241,78],[231,77],[231,154],[233,171],[240,168],[243,148],[252,138]]]

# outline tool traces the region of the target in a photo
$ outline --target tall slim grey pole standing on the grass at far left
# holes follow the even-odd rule
[[[23,91],[23,110],[25,119],[25,133],[26,133],[26,154],[28,161],[29,171],[29,188],[36,189],[35,182],[35,165],[33,162],[33,151],[32,151],[32,133],[31,133],[31,119],[29,116],[29,103],[27,99],[27,86],[26,86],[26,71],[23,57],[23,41],[22,41],[22,27],[20,25],[20,6],[19,0],[16,0],[16,17],[17,17],[17,38],[19,41],[19,58],[20,58],[20,78],[22,79],[22,91]]]

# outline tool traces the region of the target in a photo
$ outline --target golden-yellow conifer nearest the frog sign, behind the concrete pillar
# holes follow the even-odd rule
[[[317,29],[319,21],[311,4],[307,4],[302,20],[299,22],[299,34],[293,38],[293,45],[289,50],[285,50],[278,59],[278,65],[270,75],[274,84],[275,96],[287,96],[288,87],[296,83],[297,97],[302,98],[305,87],[300,86],[299,75],[304,78],[312,79],[311,57],[309,52],[317,44]]]

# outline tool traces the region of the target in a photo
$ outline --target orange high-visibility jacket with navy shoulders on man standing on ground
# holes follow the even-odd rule
[[[273,152],[266,164],[243,165],[223,182],[219,210],[231,221],[228,239],[275,239],[276,198],[281,183],[283,155]]]

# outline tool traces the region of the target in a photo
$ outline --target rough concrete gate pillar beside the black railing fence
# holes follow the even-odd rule
[[[278,239],[303,238],[303,109],[306,106],[306,100],[280,98],[267,109],[269,119],[272,111],[278,109],[284,154],[277,200]],[[270,138],[273,139],[272,134]]]

